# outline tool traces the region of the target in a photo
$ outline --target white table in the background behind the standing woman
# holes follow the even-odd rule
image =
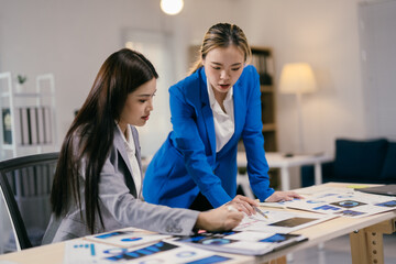
[[[290,173],[289,168],[295,166],[314,165],[315,166],[315,184],[322,183],[321,163],[332,161],[331,157],[323,154],[320,155],[302,155],[296,154],[292,157],[285,157],[283,153],[266,152],[265,157],[268,162],[270,168],[280,168],[282,190],[290,189]],[[238,152],[237,156],[238,167],[246,167],[248,160],[244,152]],[[244,177],[244,176],[240,176]],[[242,185],[242,183],[241,183]],[[245,188],[244,188],[245,189]]]

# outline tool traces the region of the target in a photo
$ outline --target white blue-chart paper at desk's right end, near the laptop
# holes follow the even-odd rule
[[[396,210],[396,197],[363,194],[348,188],[321,188],[305,199],[276,202],[279,207],[360,218]]]

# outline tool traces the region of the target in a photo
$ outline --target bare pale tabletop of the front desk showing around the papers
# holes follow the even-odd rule
[[[329,183],[326,184],[327,186],[331,187],[344,187],[349,184],[336,184]],[[356,185],[356,184],[353,184]],[[298,189],[296,190],[298,193]],[[278,209],[278,210],[286,210],[286,209]],[[288,210],[288,209],[287,209]],[[301,211],[299,211],[301,212]],[[227,263],[262,263],[267,262],[279,256],[284,256],[288,253],[293,253],[295,251],[306,249],[309,246],[318,245],[322,242],[328,240],[353,233],[355,230],[362,230],[377,223],[382,223],[384,221],[392,221],[394,224],[396,219],[396,210],[374,215],[366,218],[336,218],[329,220],[327,222],[322,222],[306,229],[298,230],[294,233],[299,233],[306,235],[309,240],[306,242],[298,243],[296,245],[292,245],[279,250],[277,252],[273,252],[263,256],[242,256],[242,255],[234,255],[235,260],[233,262]],[[394,228],[395,229],[395,228]],[[394,231],[394,230],[393,230]],[[15,263],[29,263],[29,264],[46,264],[46,263],[62,263],[64,255],[64,243],[55,243],[51,245],[38,246],[30,250],[25,250],[22,252],[15,252],[10,254],[0,255],[0,263],[1,261],[10,261]]]

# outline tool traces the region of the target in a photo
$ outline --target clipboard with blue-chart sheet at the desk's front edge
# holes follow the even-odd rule
[[[201,232],[182,237],[175,242],[200,249],[244,255],[263,255],[295,243],[306,241],[301,234],[285,234],[253,231]]]

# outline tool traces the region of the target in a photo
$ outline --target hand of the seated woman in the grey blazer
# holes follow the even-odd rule
[[[243,219],[243,213],[229,205],[200,212],[195,228],[208,231],[227,231],[235,228]]]

